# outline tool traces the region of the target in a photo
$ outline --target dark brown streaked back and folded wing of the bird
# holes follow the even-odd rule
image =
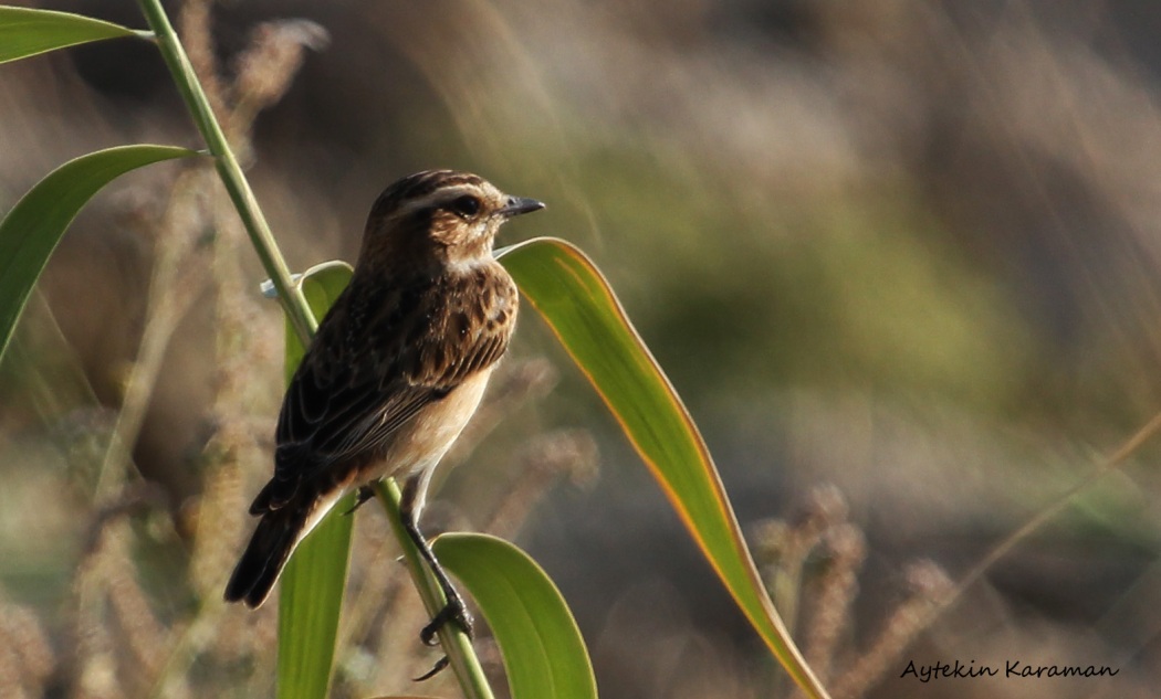
[[[507,349],[518,298],[506,274],[461,281],[483,289],[435,285],[423,294],[387,293],[380,303],[374,289],[356,283],[320,323],[287,388],[274,478],[252,511],[277,509],[332,464],[382,456],[425,406]],[[404,297],[411,307],[401,313]],[[467,327],[457,327],[463,319]]]

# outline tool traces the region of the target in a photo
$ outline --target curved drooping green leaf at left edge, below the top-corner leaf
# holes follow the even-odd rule
[[[0,221],[0,357],[49,256],[93,195],[131,169],[196,154],[153,145],[98,151],[52,170],[16,202]]]

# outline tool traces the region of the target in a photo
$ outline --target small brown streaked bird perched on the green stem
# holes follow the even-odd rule
[[[279,415],[274,478],[225,589],[258,607],[300,541],[345,494],[403,482],[403,523],[448,606],[423,631],[470,620],[417,526],[435,465],[467,424],[515,327],[519,297],[492,256],[504,221],[545,205],[481,177],[404,177],[372,207],[354,275],[295,372]]]

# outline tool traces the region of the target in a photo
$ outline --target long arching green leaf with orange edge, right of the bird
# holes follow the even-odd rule
[[[762,584],[705,440],[600,271],[579,249],[550,238],[498,256],[600,394],[770,650],[799,687],[825,697]]]

